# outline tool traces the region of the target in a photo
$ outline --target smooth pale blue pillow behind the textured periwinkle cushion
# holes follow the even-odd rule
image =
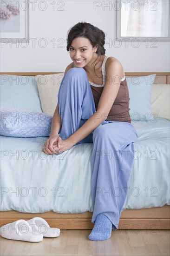
[[[34,76],[0,75],[0,109],[10,108],[42,112]]]

